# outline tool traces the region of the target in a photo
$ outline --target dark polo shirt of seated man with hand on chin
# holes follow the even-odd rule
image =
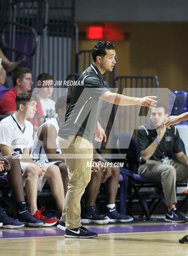
[[[152,124],[147,123],[140,126],[137,135],[138,153],[140,157],[141,150],[145,150],[157,138],[156,130],[151,130]],[[159,161],[164,157],[172,158],[173,153],[182,152],[182,147],[179,139],[179,132],[176,126],[171,126],[171,129],[166,129],[166,132],[156,148],[151,160]]]

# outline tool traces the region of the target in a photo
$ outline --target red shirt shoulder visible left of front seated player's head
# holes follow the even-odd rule
[[[16,111],[16,96],[18,92],[15,88],[9,90],[5,94],[3,94],[0,105],[1,105],[1,112],[7,111]]]

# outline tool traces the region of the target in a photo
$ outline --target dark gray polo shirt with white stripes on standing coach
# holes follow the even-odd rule
[[[68,139],[69,135],[78,135],[92,142],[103,103],[99,97],[108,89],[104,85],[103,75],[94,63],[85,69],[78,81],[83,81],[83,85],[76,86],[73,90],[70,107],[58,136]]]

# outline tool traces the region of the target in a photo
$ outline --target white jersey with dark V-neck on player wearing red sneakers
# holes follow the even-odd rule
[[[24,148],[33,146],[33,125],[29,121],[21,127],[15,113],[0,121],[0,144],[11,146],[12,155],[21,158]]]

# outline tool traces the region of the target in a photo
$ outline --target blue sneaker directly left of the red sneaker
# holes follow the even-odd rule
[[[25,225],[29,227],[42,227],[44,224],[42,220],[37,220],[30,215],[28,209],[25,211],[19,211],[17,214],[17,219],[24,222]]]

